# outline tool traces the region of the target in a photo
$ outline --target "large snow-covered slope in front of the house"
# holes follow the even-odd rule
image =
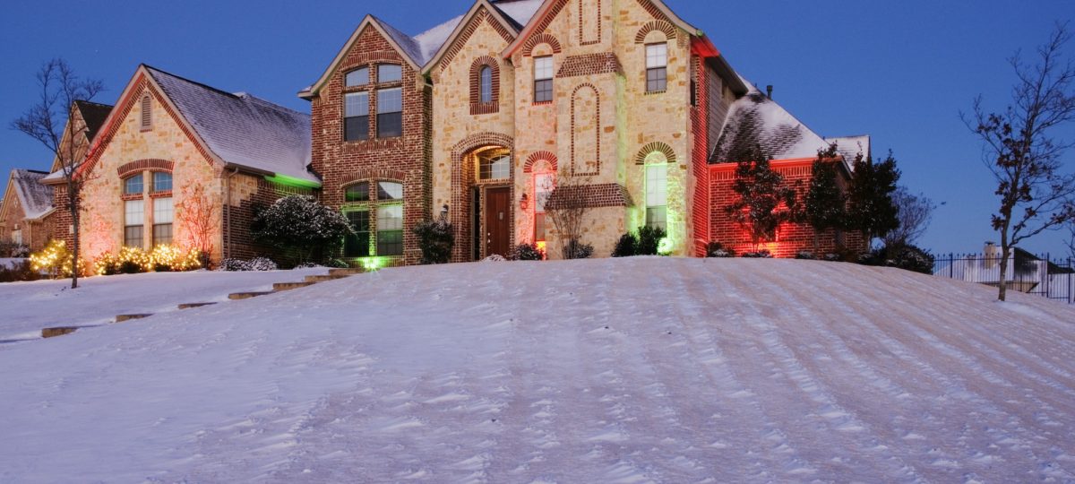
[[[1075,309],[993,297],[798,260],[388,269],[0,345],[0,482],[1073,482]]]

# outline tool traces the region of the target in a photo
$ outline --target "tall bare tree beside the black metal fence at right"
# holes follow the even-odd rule
[[[1000,233],[1000,293],[1007,293],[1012,248],[1045,230],[1075,219],[1075,175],[1063,173],[1061,155],[1073,140],[1056,138],[1057,128],[1075,120],[1075,66],[1062,47],[1071,40],[1066,24],[1058,24],[1048,42],[1037,47],[1033,63],[1016,53],[1008,62],[1017,82],[1012,103],[986,112],[981,96],[963,123],[983,141],[984,161],[997,180],[1000,208],[992,227]]]

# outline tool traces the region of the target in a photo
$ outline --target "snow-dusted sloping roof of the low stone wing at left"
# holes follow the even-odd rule
[[[148,66],[146,71],[224,162],[320,183],[306,170],[312,153],[309,114]]]

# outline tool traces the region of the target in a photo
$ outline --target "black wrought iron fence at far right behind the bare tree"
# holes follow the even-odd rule
[[[933,275],[990,286],[1000,284],[999,254],[940,255],[933,262]],[[1033,294],[1075,304],[1075,259],[1035,255],[1015,250],[1007,264],[1008,290]]]

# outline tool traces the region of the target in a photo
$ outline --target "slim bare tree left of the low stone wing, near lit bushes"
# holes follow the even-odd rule
[[[78,222],[82,209],[82,186],[85,179],[78,174],[82,159],[78,157],[81,141],[86,130],[74,125],[74,102],[88,101],[104,90],[99,80],[82,79],[63,59],[53,59],[45,62],[37,74],[39,90],[38,100],[22,117],[11,123],[11,128],[22,131],[45,145],[56,156],[57,165],[63,175],[63,186],[67,188],[64,207],[71,215],[71,230],[74,244],[71,257],[72,267],[77,268],[78,261]],[[63,136],[68,126],[68,136]],[[78,287],[78,271],[71,274],[71,288]]]

